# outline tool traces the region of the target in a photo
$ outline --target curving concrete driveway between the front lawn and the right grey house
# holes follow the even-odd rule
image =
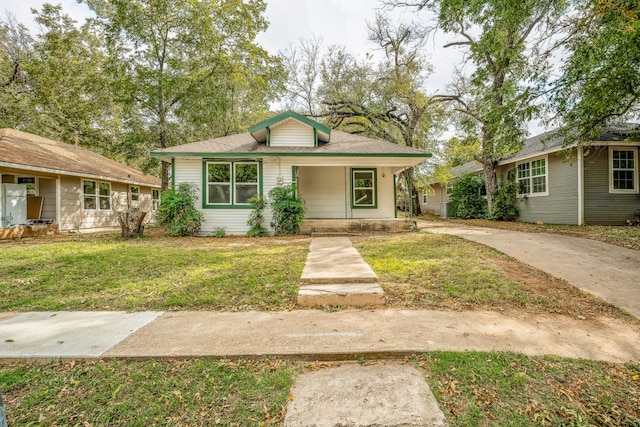
[[[495,248],[640,319],[640,251],[560,234],[450,222],[419,221],[418,226],[429,233],[452,234]]]

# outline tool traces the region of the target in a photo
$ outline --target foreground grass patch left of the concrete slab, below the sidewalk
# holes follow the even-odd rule
[[[0,388],[11,426],[276,425],[296,369],[275,360],[16,364],[0,368]]]

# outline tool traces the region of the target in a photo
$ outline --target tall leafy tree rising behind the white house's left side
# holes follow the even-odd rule
[[[113,88],[126,106],[123,152],[235,131],[229,112],[253,120],[250,109],[267,111],[278,62],[254,42],[267,28],[262,0],[83,1],[105,33]]]

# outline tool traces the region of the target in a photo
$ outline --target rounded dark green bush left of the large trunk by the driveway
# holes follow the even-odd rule
[[[482,197],[484,178],[480,175],[462,175],[453,181],[449,191],[449,214],[463,219],[485,218],[487,200]]]

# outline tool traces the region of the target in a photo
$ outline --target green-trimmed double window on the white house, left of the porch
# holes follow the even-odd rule
[[[207,205],[248,206],[260,194],[256,162],[207,162],[205,173]]]

